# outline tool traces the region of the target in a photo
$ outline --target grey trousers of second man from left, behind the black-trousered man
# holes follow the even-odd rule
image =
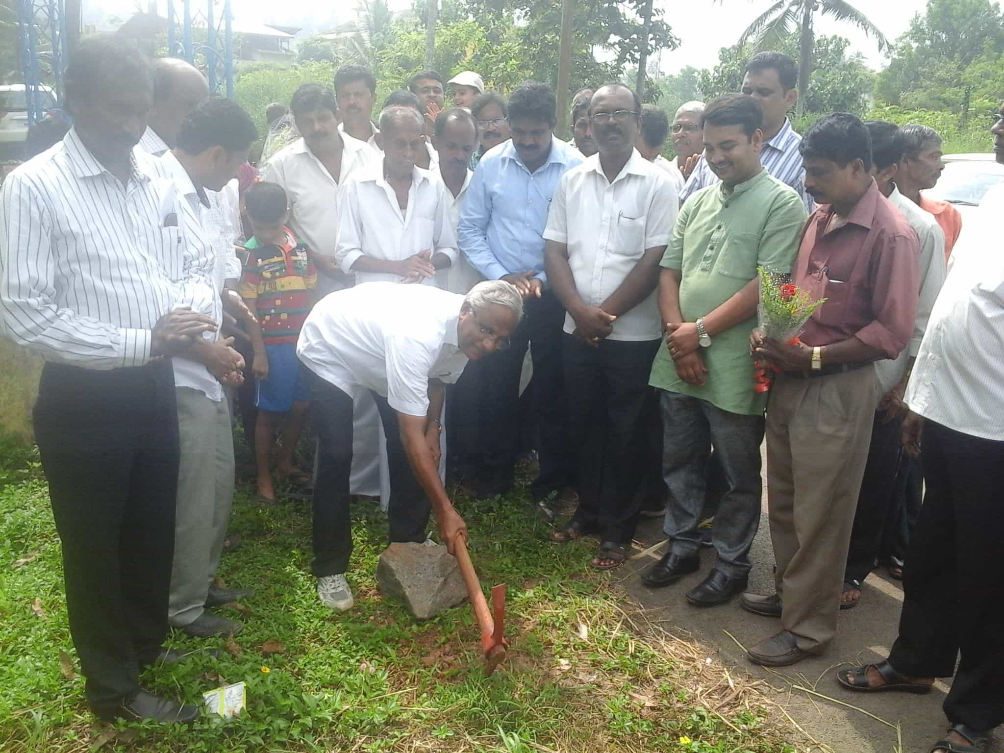
[[[176,388],[181,463],[175,513],[175,559],[168,621],[183,628],[202,614],[220,562],[234,500],[234,438],[226,400]]]

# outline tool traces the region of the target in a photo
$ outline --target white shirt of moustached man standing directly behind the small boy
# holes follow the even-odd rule
[[[337,178],[314,157],[303,139],[297,139],[269,160],[261,179],[278,183],[289,198],[289,227],[307,248],[318,255],[334,257],[334,240],[338,233],[338,187],[349,176],[380,155],[364,142],[342,139],[341,170]],[[318,288],[324,292],[318,276]],[[328,281],[329,287],[333,284]],[[334,285],[337,287],[337,285]]]

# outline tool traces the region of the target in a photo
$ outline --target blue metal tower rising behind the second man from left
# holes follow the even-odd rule
[[[176,0],[167,1],[168,54],[183,57],[203,70],[209,80],[210,91],[233,98],[234,32],[230,0],[223,0],[223,13],[219,20],[216,19],[213,0],[205,0],[205,11],[195,12],[192,0],[181,0],[180,17]],[[205,31],[204,42],[195,40],[195,31],[200,35]]]

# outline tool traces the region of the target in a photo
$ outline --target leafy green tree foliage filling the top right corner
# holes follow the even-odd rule
[[[1004,95],[1004,15],[989,0],[929,0],[878,73],[875,98],[956,112]]]

